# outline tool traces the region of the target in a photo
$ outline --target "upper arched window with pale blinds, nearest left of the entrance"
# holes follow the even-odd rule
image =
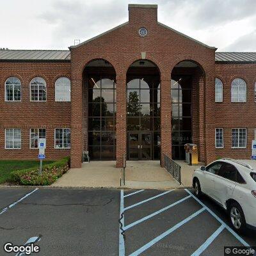
[[[70,101],[70,79],[60,77],[55,82],[55,101]]]

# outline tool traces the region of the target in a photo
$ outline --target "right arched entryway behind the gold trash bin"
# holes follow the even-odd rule
[[[204,142],[200,138],[204,131],[199,124],[204,122],[200,120],[204,119],[204,113],[200,111],[204,104],[204,69],[195,61],[184,60],[175,65],[171,77],[172,159],[185,159],[186,143],[198,145],[202,159]]]

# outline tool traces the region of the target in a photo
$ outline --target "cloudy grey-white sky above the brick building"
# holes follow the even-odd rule
[[[5,0],[0,47],[67,49],[128,20],[128,4],[158,4],[158,20],[218,51],[256,51],[256,0]]]

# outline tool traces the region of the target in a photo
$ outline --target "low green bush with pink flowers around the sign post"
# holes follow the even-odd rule
[[[70,166],[70,157],[43,166],[42,175],[39,175],[39,168],[17,170],[11,173],[11,182],[18,182],[20,185],[51,185],[63,173],[67,172]]]

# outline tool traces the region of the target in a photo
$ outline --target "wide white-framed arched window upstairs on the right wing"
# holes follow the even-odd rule
[[[246,83],[241,78],[236,78],[231,84],[231,101],[246,102]]]

